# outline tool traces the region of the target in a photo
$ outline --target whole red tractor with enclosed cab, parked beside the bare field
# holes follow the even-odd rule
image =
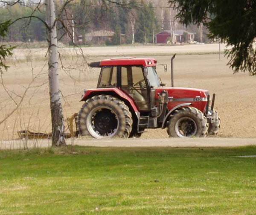
[[[165,87],[154,58],[111,58],[100,67],[96,89],[84,90],[78,113],[80,135],[95,138],[140,137],[147,128],[167,128],[170,137],[216,135],[220,118],[207,90]],[[164,65],[167,70],[166,64]]]

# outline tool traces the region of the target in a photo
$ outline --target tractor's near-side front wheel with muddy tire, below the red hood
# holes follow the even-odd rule
[[[175,110],[167,128],[169,137],[206,137],[207,131],[206,117],[193,107]]]

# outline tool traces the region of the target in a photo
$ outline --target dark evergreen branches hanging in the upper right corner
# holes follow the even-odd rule
[[[229,65],[236,72],[256,75],[256,1],[169,0],[177,6],[177,17],[186,25],[204,23],[209,37],[220,38],[227,50]]]

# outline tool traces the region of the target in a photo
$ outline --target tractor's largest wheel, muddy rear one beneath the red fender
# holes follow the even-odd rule
[[[132,116],[129,108],[119,99],[109,95],[93,96],[78,113],[78,129],[81,136],[94,138],[129,137]]]

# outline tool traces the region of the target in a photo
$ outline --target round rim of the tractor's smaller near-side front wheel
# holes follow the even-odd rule
[[[182,117],[175,124],[175,132],[178,137],[193,137],[197,132],[197,125],[194,119]]]

